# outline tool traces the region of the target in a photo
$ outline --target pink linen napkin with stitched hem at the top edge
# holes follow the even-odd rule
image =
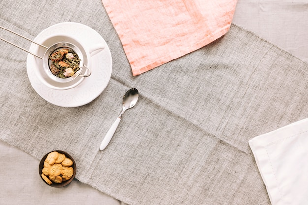
[[[237,0],[102,0],[134,76],[195,51],[230,28]]]

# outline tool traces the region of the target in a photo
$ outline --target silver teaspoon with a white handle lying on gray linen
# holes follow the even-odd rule
[[[108,130],[106,136],[104,137],[99,149],[100,150],[104,150],[106,148],[106,146],[109,144],[113,134],[115,133],[119,122],[121,120],[121,117],[123,116],[124,112],[129,109],[134,107],[134,105],[136,104],[137,100],[139,97],[139,93],[138,90],[136,88],[132,88],[130,90],[128,90],[124,97],[123,97],[123,109],[121,111],[121,113],[119,114],[119,116],[117,117],[116,121],[112,124],[112,126],[110,127],[110,129]]]

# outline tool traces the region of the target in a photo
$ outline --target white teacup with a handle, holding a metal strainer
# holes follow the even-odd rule
[[[34,53],[44,57],[43,60],[35,58],[37,64],[40,65],[35,68],[35,74],[44,85],[57,90],[66,90],[78,86],[85,77],[91,74],[91,57],[104,49],[103,44],[96,44],[95,46],[89,47],[83,45],[79,40],[63,34],[48,36],[46,39],[42,39],[37,43],[48,47],[48,49],[46,50],[40,46],[36,47]],[[69,47],[73,49],[80,58],[81,63],[79,71],[68,78],[59,78],[52,74],[49,69],[49,55],[60,47]]]

